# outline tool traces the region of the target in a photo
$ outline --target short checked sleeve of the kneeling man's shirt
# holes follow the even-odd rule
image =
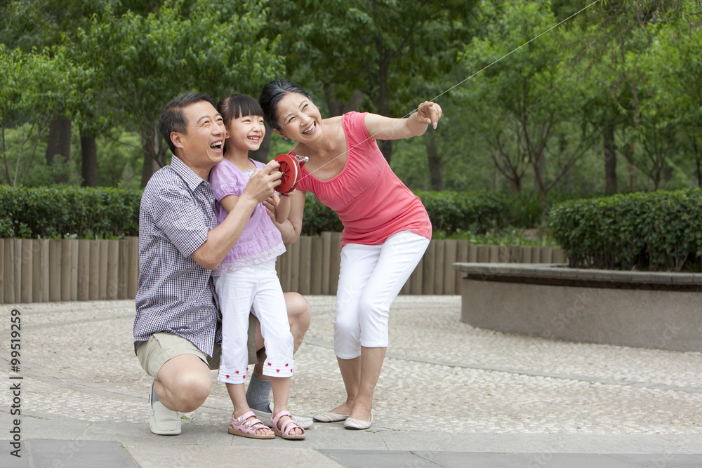
[[[180,253],[189,257],[210,231],[202,208],[185,188],[164,187],[152,200],[155,225]]]

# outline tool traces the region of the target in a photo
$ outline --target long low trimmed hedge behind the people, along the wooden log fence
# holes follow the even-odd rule
[[[0,186],[0,238],[114,239],[139,234],[142,192],[75,186]],[[490,192],[418,192],[434,231],[484,234],[508,225],[510,206]],[[305,200],[302,234],[343,229],[338,215],[312,194]]]

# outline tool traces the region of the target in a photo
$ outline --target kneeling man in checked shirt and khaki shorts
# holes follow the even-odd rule
[[[154,173],[142,196],[139,215],[139,288],[134,348],[154,377],[150,427],[154,434],[180,434],[178,412],[204,403],[218,368],[221,329],[211,279],[241,235],[253,208],[279,184],[271,161],[249,180],[237,206],[217,225],[210,169],[222,161],[225,126],[213,98],[185,93],[168,102],[159,121],[173,152],[171,165]],[[307,301],[286,295],[291,332],[299,345],[310,321]],[[263,347],[253,327],[249,343]],[[250,346],[250,354],[256,347]],[[260,381],[259,381],[260,383]],[[259,385],[260,387],[260,385]],[[258,391],[263,394],[265,388]],[[265,394],[267,402],[267,394]],[[263,408],[260,408],[263,409]]]

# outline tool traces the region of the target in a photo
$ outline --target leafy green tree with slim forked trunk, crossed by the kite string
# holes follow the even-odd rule
[[[486,66],[517,46],[557,24],[548,4],[483,1],[480,5],[485,32],[465,48],[466,67]],[[482,131],[490,143],[496,166],[512,180],[521,179],[524,161],[534,173],[541,194],[542,216],[547,213],[546,194],[585,154],[592,131],[574,132],[573,114],[583,90],[571,71],[565,29],[524,46],[509,60],[496,63],[479,78],[474,100],[486,102]],[[480,65],[477,66],[479,68]],[[513,130],[512,130],[513,129]],[[548,164],[547,164],[548,156]],[[518,187],[518,185],[517,185]]]

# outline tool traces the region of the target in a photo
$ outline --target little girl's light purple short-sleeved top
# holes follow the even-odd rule
[[[256,165],[256,168],[264,168],[265,164],[249,159]],[[247,171],[249,172],[249,171]],[[237,168],[232,161],[223,159],[210,171],[210,185],[215,194],[215,213],[217,215],[217,225],[227,218],[227,210],[224,209],[220,200],[227,195],[240,196],[244,193],[246,184],[249,182],[251,173],[247,175]],[[265,210],[263,203],[258,203],[253,209],[253,214],[246,223],[244,231],[239,236],[239,241],[234,244],[232,250],[222,260],[219,267],[212,276],[221,276],[234,270],[251,267],[276,258],[285,252],[285,245],[280,236],[280,231],[270,220],[270,216]]]

